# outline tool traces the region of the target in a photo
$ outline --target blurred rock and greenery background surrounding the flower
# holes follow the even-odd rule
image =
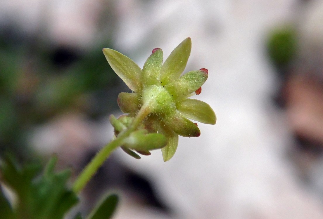
[[[166,163],[117,150],[75,211],[117,190],[118,219],[322,218],[322,24],[319,0],[1,0],[0,156],[55,153],[78,175],[130,91],[102,48],[142,67],[191,37],[185,72],[209,70],[197,98],[217,124]]]

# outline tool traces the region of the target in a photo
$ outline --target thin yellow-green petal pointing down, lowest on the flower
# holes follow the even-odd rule
[[[166,136],[167,144],[161,148],[164,161],[169,161],[175,154],[178,145],[178,134],[172,131],[167,125],[163,125],[159,132]]]

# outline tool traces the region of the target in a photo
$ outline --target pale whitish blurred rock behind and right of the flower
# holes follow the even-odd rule
[[[140,66],[153,48],[162,48],[166,58],[183,39],[192,38],[185,72],[209,70],[196,98],[213,107],[217,124],[199,124],[200,137],[180,138],[176,154],[166,163],[160,151],[139,161],[117,152],[122,162],[151,178],[159,197],[175,210],[171,218],[323,217],[322,197],[300,182],[288,160],[292,137],[284,114],[270,99],[278,81],[265,54],[271,28],[293,22],[304,12],[300,1],[120,0],[107,4],[88,0],[49,4],[2,0],[0,12],[16,12],[16,19],[28,31],[41,22],[42,4],[51,9],[45,14],[52,37],[80,46],[90,45],[95,38],[100,5],[110,5],[117,21],[113,49],[127,53]],[[108,123],[97,129],[100,137],[93,141],[110,140],[113,133]],[[46,142],[40,135],[44,137],[42,132],[36,134],[36,145]],[[55,141],[47,153],[55,151],[53,145]],[[124,199],[115,218],[170,217],[130,206]]]

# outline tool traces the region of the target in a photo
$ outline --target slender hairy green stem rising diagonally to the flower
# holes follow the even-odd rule
[[[78,178],[73,184],[74,193],[78,194],[84,186],[89,182],[92,176],[97,172],[99,167],[107,160],[110,154],[119,146],[123,144],[123,140],[127,138],[141,123],[141,121],[149,114],[148,107],[141,107],[136,118],[133,120],[130,127],[122,131],[117,138],[112,140],[109,144],[103,147],[96,155],[93,157],[91,162],[84,168]]]

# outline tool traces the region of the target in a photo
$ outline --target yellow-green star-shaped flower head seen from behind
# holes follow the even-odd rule
[[[163,143],[166,146],[162,145],[161,148],[164,161],[174,155],[178,135],[197,137],[201,134],[197,124],[189,119],[205,124],[216,122],[214,111],[208,104],[188,98],[201,93],[201,86],[208,77],[208,70],[205,68],[182,75],[191,53],[191,46],[191,38],[186,38],[172,51],[164,64],[162,50],[155,48],[142,69],[127,56],[113,49],[103,49],[111,68],[133,91],[119,94],[118,105],[121,111],[128,114],[126,117],[134,118],[140,110],[147,110],[148,114],[142,120],[143,127],[139,130],[145,129],[148,133],[158,133],[166,137],[167,141]],[[118,122],[116,119],[112,120],[116,130]],[[124,127],[116,130],[116,134],[129,127],[120,122]],[[150,140],[147,142],[151,144]],[[147,149],[149,150],[149,147]],[[146,152],[145,150],[143,154]]]

